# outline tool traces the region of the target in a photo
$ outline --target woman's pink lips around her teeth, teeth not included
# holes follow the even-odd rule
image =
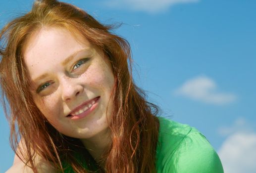
[[[82,103],[81,105],[79,105],[78,107],[76,107],[75,109],[73,109],[66,117],[67,118],[70,118],[70,119],[81,119],[81,118],[84,118],[86,117],[88,114],[90,114],[99,104],[99,99],[100,99],[100,96],[98,97],[95,97],[91,100],[88,100],[84,103]],[[79,111],[80,109],[82,109],[83,107],[85,107],[86,105],[90,104],[91,102],[95,102],[90,108],[88,108],[86,111],[80,113],[80,114],[77,114],[77,115],[71,115],[71,114],[74,114],[75,112]]]

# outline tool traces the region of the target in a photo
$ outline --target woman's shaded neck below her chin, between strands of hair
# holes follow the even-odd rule
[[[92,155],[95,161],[104,168],[104,160],[102,160],[102,155],[106,152],[111,144],[110,130],[107,128],[103,130],[100,134],[87,139],[81,139],[85,148]]]

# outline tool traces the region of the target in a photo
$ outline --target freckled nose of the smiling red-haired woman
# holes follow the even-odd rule
[[[79,84],[78,79],[63,77],[60,81],[62,100],[69,102],[83,92],[84,87]]]

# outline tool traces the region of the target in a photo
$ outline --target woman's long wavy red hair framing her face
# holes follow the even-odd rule
[[[104,168],[79,139],[55,130],[33,101],[23,60],[25,43],[42,27],[61,27],[79,33],[99,48],[112,66],[115,84],[109,120],[111,145],[102,156]],[[6,24],[0,32],[0,84],[5,115],[10,124],[10,144],[18,157],[37,173],[39,155],[58,171],[64,162],[77,173],[89,173],[92,165],[105,173],[154,173],[158,139],[158,108],[132,79],[129,43],[113,34],[115,25],[103,25],[84,10],[57,0],[36,0],[30,12]],[[23,150],[17,152],[22,138]],[[83,151],[83,152],[81,152]],[[81,164],[77,153],[87,163]]]

